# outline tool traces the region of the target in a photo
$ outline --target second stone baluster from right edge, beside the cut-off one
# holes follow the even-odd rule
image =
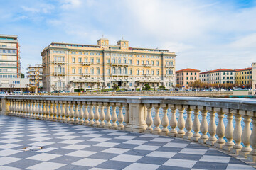
[[[242,130],[242,143],[245,145],[239,152],[239,155],[247,158],[247,154],[250,154],[252,148],[250,148],[250,135],[252,131],[250,130],[250,115],[247,115],[247,111],[242,111],[242,118],[244,118],[245,127]]]

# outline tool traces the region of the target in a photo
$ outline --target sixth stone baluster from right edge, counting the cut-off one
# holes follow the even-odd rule
[[[210,123],[208,126],[208,132],[210,134],[209,139],[206,141],[207,145],[213,146],[215,144],[215,142],[217,141],[217,138],[215,137],[216,135],[216,123],[215,123],[215,111],[213,107],[206,107],[206,109],[209,111],[210,113]]]

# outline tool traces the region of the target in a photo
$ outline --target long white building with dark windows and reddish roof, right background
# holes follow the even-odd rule
[[[215,69],[201,72],[199,78],[203,83],[208,84],[235,84],[235,70]]]

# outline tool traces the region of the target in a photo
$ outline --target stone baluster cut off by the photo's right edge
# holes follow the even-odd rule
[[[252,151],[247,155],[247,159],[252,162],[256,162],[256,113],[252,113],[252,134],[250,136],[250,145],[252,146]]]

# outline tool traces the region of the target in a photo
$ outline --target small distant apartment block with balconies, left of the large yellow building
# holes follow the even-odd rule
[[[42,64],[36,64],[31,66],[28,64],[27,78],[29,79],[29,85],[36,88],[43,88],[43,67]]]

